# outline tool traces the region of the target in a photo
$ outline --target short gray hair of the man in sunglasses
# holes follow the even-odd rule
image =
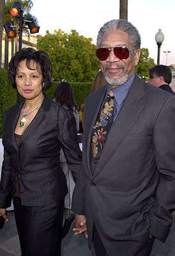
[[[97,47],[100,48],[100,46],[102,44],[103,34],[106,31],[116,30],[116,29],[120,29],[120,30],[128,33],[130,43],[132,43],[132,45],[133,45],[133,51],[140,49],[141,36],[139,34],[139,31],[130,22],[128,22],[127,20],[123,20],[123,19],[110,20],[109,22],[105,23],[102,26],[102,28],[100,28],[100,31],[98,32],[98,36],[97,36],[97,40],[96,40]]]

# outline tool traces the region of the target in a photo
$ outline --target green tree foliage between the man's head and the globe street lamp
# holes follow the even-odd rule
[[[147,81],[149,77],[149,68],[155,66],[155,61],[149,57],[148,49],[141,49],[141,57],[138,65],[135,67],[135,73],[141,77],[143,81]]]

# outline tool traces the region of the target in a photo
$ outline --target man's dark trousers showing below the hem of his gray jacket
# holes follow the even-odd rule
[[[151,250],[153,248],[153,243],[155,241],[155,237],[152,237],[147,244],[141,244],[137,241],[116,241],[118,243],[118,250],[116,250],[116,256],[149,256],[151,255]],[[96,230],[94,225],[93,228],[93,245],[95,248],[96,256],[110,256],[105,251],[105,247],[103,246],[102,240]]]

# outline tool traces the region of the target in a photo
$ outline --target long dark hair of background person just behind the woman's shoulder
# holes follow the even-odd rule
[[[72,86],[68,82],[61,82],[57,85],[54,92],[54,100],[62,106],[73,111],[79,112],[79,106],[75,103]]]

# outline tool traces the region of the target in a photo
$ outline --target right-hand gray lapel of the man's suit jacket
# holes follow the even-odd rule
[[[141,100],[142,97],[144,97],[143,83],[137,76],[135,76],[118,117],[110,129],[105,147],[103,148],[102,155],[98,161],[94,177],[109,161],[112,154],[117,150],[121,141],[125,138],[126,134],[130,131],[132,125],[137,120],[139,114],[144,108],[144,104]]]

